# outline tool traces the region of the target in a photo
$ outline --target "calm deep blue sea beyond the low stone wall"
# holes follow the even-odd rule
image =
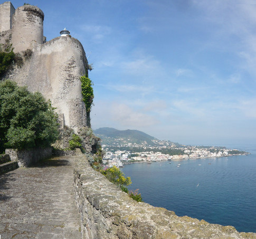
[[[233,148],[251,154],[143,162],[122,171],[131,177],[129,189],[139,188],[145,203],[178,216],[232,225],[239,232],[256,232],[256,145]]]

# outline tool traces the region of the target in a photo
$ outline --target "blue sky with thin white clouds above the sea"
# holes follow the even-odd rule
[[[26,3],[44,12],[47,40],[66,27],[82,43],[94,68],[93,129],[189,145],[256,144],[255,1]]]

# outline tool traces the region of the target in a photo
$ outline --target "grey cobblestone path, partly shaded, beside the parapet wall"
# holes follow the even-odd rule
[[[0,235],[1,239],[81,238],[72,157],[0,175]]]

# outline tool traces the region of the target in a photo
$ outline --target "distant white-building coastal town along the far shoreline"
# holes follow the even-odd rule
[[[123,167],[134,162],[150,164],[159,160],[179,161],[248,154],[245,151],[225,147],[179,145],[169,140],[153,139],[152,145],[148,145],[147,141],[141,144],[131,141],[127,138],[112,138],[111,145],[103,144],[102,148],[105,150],[103,164],[108,167]]]

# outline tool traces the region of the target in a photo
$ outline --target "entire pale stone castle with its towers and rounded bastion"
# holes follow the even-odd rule
[[[90,126],[80,81],[88,69],[86,53],[70,35],[44,42],[43,20],[44,13],[36,6],[24,5],[15,11],[11,2],[0,5],[0,43],[10,41],[14,52],[23,57],[22,65],[14,65],[3,79],[41,92],[51,100],[63,127],[67,125],[77,132],[82,126]]]

